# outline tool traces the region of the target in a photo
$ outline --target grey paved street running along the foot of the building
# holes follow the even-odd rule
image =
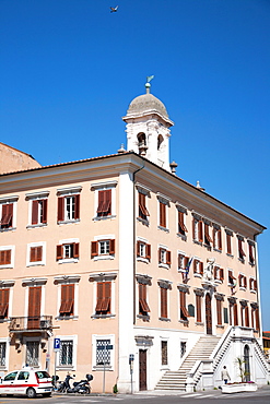
[[[166,392],[145,392],[145,393],[137,393],[133,395],[125,395],[118,394],[117,396],[114,395],[105,395],[105,396],[81,396],[81,395],[58,395],[54,394],[50,399],[43,399],[37,397],[32,400],[32,403],[50,403],[50,404],[107,404],[107,403],[115,403],[115,404],[137,404],[137,403],[145,403],[145,404],[198,404],[198,400],[200,404],[209,404],[209,401],[218,400],[219,403],[236,403],[236,404],[247,404],[247,403],[256,403],[256,404],[269,404],[270,403],[270,387],[265,387],[259,389],[257,392],[254,393],[238,393],[238,394],[222,394],[220,390],[211,390],[204,392],[196,392],[196,393],[172,393],[167,395]],[[28,399],[24,397],[0,397],[0,404],[9,403],[30,403]]]

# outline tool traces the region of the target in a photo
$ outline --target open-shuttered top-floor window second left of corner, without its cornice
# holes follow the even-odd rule
[[[58,197],[58,222],[72,222],[80,218],[80,194]]]

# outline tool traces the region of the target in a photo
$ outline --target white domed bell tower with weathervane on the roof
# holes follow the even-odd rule
[[[150,81],[145,83],[146,92],[136,97],[129,105],[126,117],[127,150],[133,150],[160,167],[169,168],[169,128],[174,122],[168,118],[164,104],[150,93]]]

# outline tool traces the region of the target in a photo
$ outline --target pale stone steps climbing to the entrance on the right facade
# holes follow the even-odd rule
[[[187,373],[190,372],[197,360],[207,360],[214,350],[220,337],[201,336],[193,348],[187,355],[179,370],[166,371],[155,387],[155,390],[180,390],[186,391]]]

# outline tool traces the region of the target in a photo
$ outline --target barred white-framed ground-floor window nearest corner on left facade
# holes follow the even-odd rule
[[[106,368],[114,370],[115,367],[115,335],[92,335],[92,366],[93,370]],[[111,349],[113,347],[113,349]]]

